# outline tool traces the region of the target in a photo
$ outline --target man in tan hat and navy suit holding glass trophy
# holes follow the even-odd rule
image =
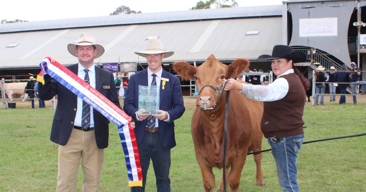
[[[170,190],[170,149],[175,143],[174,120],[185,111],[179,78],[161,67],[161,60],[174,52],[167,52],[158,39],[149,39],[144,51],[135,52],[145,57],[149,65],[145,70],[130,77],[123,110],[136,122],[135,136],[142,169],[142,186],[132,187],[132,192],[145,191],[147,169],[153,162],[157,191]],[[157,85],[160,90],[161,114],[135,114],[139,109],[139,85]]]

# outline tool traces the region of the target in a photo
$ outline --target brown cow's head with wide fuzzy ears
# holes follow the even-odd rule
[[[197,91],[199,92],[203,86],[211,85],[220,87],[223,79],[236,78],[246,68],[249,67],[247,59],[236,59],[230,65],[225,65],[218,61],[215,56],[210,55],[205,63],[199,67],[193,67],[185,61],[173,63],[173,70],[185,80],[195,79]],[[198,95],[196,105],[203,108],[203,102],[206,107],[215,105],[218,97],[216,91],[211,87],[204,87],[201,94]]]

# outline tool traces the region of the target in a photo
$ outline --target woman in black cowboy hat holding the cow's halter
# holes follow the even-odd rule
[[[258,60],[272,60],[272,71],[277,75],[273,83],[261,86],[229,79],[225,90],[239,90],[263,101],[261,129],[272,147],[280,186],[284,191],[299,191],[297,153],[304,140],[302,116],[310,82],[293,64],[305,61],[306,56],[290,46],[276,45],[272,55],[261,55]]]

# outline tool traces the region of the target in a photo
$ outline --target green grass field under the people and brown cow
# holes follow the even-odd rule
[[[337,96],[339,98],[339,96]],[[325,97],[329,101],[329,97]],[[121,100],[122,102],[122,100]],[[123,103],[123,102],[122,102]],[[204,191],[201,172],[195,159],[191,138],[191,117],[195,98],[184,98],[186,112],[175,121],[177,146],[172,149],[171,188],[176,192]],[[38,102],[36,102],[38,106]],[[30,103],[17,102],[16,109],[0,109],[0,191],[55,191],[57,144],[49,140],[54,110],[49,101],[45,109],[30,109]],[[366,132],[366,96],[353,105],[326,102],[322,106],[306,103],[303,119],[305,141]],[[245,115],[245,114],[242,114]],[[124,154],[117,127],[109,125],[109,147],[104,151],[100,191],[129,191]],[[300,191],[366,191],[366,136],[304,144],[298,154]],[[263,149],[269,144],[263,139]],[[156,191],[150,166],[146,191]],[[277,180],[275,161],[270,152],[263,154],[265,187],[255,185],[255,163],[249,155],[242,171],[239,191],[282,191]],[[214,169],[216,187],[221,170]],[[82,171],[77,186],[81,191]],[[216,189],[214,190],[216,191]]]

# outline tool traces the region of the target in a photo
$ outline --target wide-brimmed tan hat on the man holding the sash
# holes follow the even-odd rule
[[[93,35],[89,35],[87,33],[81,34],[78,40],[67,45],[67,50],[75,57],[77,57],[75,54],[76,45],[79,45],[79,46],[94,45],[98,49],[98,52],[97,52],[96,56],[94,57],[94,59],[102,56],[102,54],[104,53],[103,46],[96,44],[95,37]]]

